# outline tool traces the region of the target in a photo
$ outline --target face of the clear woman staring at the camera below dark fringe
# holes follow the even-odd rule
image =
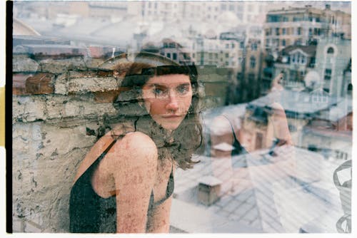
[[[143,86],[144,105],[151,118],[166,130],[175,130],[185,118],[192,100],[189,76],[154,76]]]

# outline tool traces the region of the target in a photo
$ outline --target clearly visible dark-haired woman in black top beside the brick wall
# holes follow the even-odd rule
[[[133,115],[126,113],[129,123],[99,139],[79,166],[71,232],[169,232],[174,170],[193,165],[202,130],[196,68],[158,64],[136,61],[126,72],[117,102],[119,112],[129,105]]]

